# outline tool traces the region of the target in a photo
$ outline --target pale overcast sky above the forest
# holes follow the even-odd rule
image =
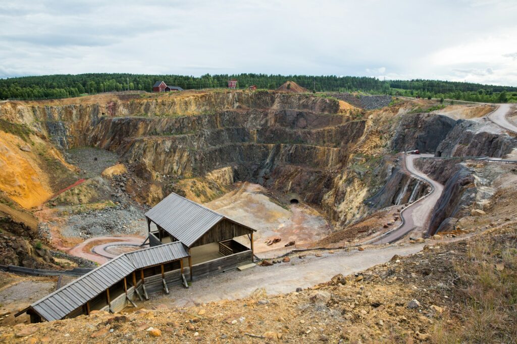
[[[90,72],[517,86],[517,0],[0,1],[0,77]]]

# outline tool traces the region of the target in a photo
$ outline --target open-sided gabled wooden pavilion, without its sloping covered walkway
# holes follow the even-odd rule
[[[172,193],[145,217],[150,246],[179,241],[188,248],[191,280],[211,269],[224,270],[223,264],[226,270],[231,269],[232,260],[233,264],[253,262],[256,230],[190,199]],[[151,223],[156,229],[151,230]],[[247,240],[249,247],[243,244]],[[196,264],[193,268],[192,260]]]

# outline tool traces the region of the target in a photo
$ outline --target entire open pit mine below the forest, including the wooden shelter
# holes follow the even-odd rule
[[[2,101],[0,342],[440,342],[466,257],[515,274],[516,122],[335,92]]]

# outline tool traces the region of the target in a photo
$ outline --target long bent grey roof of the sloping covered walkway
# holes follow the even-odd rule
[[[36,301],[31,307],[48,321],[63,319],[133,271],[188,256],[180,242],[124,253]]]

